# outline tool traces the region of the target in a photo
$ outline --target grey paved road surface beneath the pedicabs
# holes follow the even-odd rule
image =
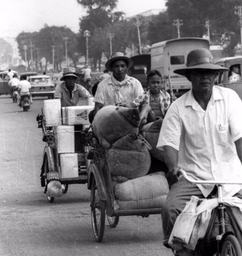
[[[173,255],[162,246],[160,215],[120,217],[97,243],[86,184],[47,202],[39,180],[45,143],[36,123],[42,105],[43,98],[34,98],[31,110],[22,112],[0,96],[0,256]]]

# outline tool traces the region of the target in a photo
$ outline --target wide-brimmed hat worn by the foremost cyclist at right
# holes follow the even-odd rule
[[[205,48],[190,51],[187,55],[186,68],[176,69],[174,73],[185,76],[193,69],[212,69],[218,72],[229,70],[228,68],[214,64],[212,53]]]

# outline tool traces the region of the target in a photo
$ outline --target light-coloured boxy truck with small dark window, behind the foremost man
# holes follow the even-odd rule
[[[170,92],[172,89],[179,97],[190,90],[190,81],[174,73],[174,70],[185,68],[188,53],[198,48],[209,49],[209,40],[196,37],[178,38],[151,46],[151,70],[157,69],[161,72],[166,91]]]

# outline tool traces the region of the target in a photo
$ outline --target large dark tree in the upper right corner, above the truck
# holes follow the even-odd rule
[[[240,41],[238,16],[235,15],[235,0],[167,0],[167,14],[170,20],[182,19],[181,36],[202,37],[206,33],[206,19],[211,24],[211,40],[221,41],[222,38],[233,38],[224,45],[227,53],[232,56],[236,44]],[[228,37],[228,35],[232,37]]]

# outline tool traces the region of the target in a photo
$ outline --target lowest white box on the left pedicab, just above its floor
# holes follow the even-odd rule
[[[78,155],[59,154],[61,178],[76,178],[78,177]]]

